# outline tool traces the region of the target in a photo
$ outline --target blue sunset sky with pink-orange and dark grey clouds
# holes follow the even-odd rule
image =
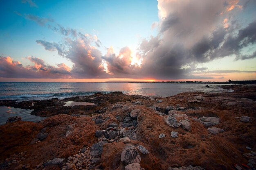
[[[256,0],[0,4],[0,81],[256,80]]]

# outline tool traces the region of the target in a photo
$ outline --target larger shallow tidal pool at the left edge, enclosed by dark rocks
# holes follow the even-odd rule
[[[39,122],[45,118],[34,116],[30,113],[33,110],[19,109],[14,107],[0,106],[0,125],[5,124],[7,119],[11,116],[20,116],[24,121]]]

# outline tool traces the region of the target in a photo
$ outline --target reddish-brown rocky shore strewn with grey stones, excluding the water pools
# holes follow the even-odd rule
[[[256,86],[225,88],[234,92],[2,100],[47,118],[9,118],[0,126],[0,169],[255,169]],[[95,105],[65,107],[66,101]]]

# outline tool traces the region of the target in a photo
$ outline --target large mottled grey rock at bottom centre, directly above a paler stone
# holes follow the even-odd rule
[[[139,163],[141,157],[138,153],[138,150],[132,144],[126,144],[125,148],[121,153],[121,161],[130,164],[130,163]]]

